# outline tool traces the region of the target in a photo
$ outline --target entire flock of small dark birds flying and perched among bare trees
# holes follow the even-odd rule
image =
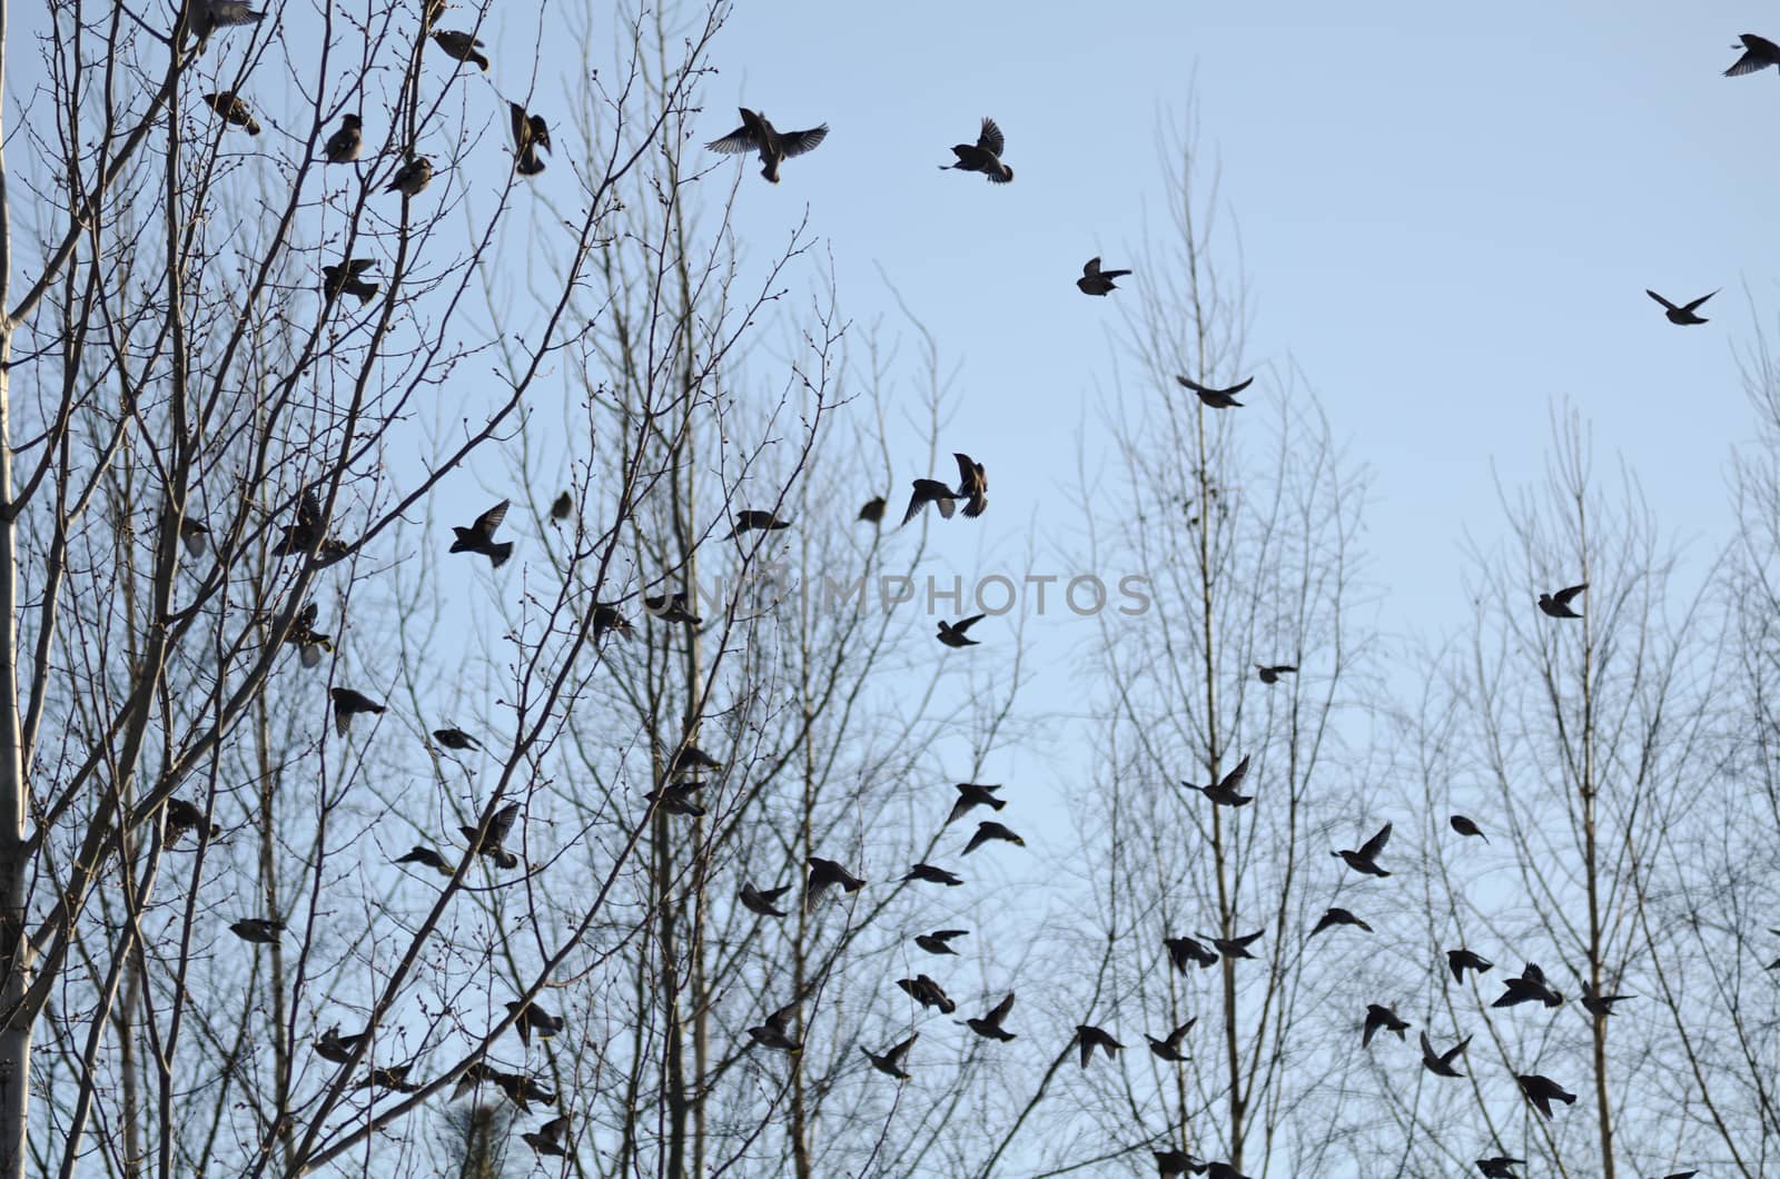
[[[433,21],[443,14],[445,0],[425,0],[425,20],[424,32],[433,39],[433,43],[450,55],[452,59],[466,64],[473,64],[482,71],[488,71],[490,61],[481,52],[482,43],[472,32],[461,30],[443,30],[433,28]],[[217,28],[226,28],[233,25],[256,23],[265,16],[263,11],[253,9],[247,0],[185,0],[185,7],[180,21],[180,39],[194,36],[198,39],[198,52],[203,52],[205,41]],[[1780,68],[1780,45],[1759,37],[1755,34],[1744,34],[1741,37],[1743,57],[1737,59],[1725,73],[1728,77],[1755,73],[1768,66]],[[217,91],[212,94],[203,94],[203,102],[221,118],[226,125],[240,126],[249,135],[260,134],[260,123],[253,114],[251,105],[231,91]],[[539,151],[550,150],[550,130],[545,119],[538,114],[529,112],[522,103],[509,102],[509,119],[513,134],[514,150],[514,169],[525,176],[536,176],[545,169],[543,160],[538,157]],[[799,132],[780,132],[773,123],[760,112],[740,109],[742,125],[708,142],[708,150],[721,153],[756,153],[762,160],[762,176],[769,182],[780,182],[780,166],[787,159],[794,159],[815,150],[828,137],[828,125],[813,126]],[[358,114],[344,114],[340,118],[340,126],[328,137],[322,146],[322,160],[326,164],[349,164],[360,159],[365,144],[363,119]],[[1013,167],[1002,160],[1006,150],[1006,135],[1000,126],[991,118],[984,118],[975,142],[961,142],[952,148],[956,157],[951,164],[942,164],[945,171],[959,169],[967,173],[979,173],[986,176],[991,183],[1011,183]],[[413,151],[395,167],[390,176],[384,192],[400,192],[404,198],[413,198],[422,192],[433,180],[433,162],[427,157],[417,155]],[[360,303],[368,303],[376,297],[379,287],[376,283],[365,281],[365,274],[376,265],[368,258],[344,258],[336,265],[322,267],[324,283],[322,292],[326,299],[335,299],[340,294],[351,294],[360,299]],[[1082,276],[1077,281],[1077,289],[1088,296],[1107,296],[1116,290],[1114,280],[1130,274],[1127,269],[1102,269],[1100,258],[1089,258],[1082,267]],[[1646,292],[1652,299],[1663,305],[1664,315],[1670,322],[1679,326],[1693,326],[1707,322],[1698,315],[1698,308],[1712,296],[1702,296],[1691,303],[1675,305],[1657,294],[1655,290]],[[1716,294],[1716,292],[1714,292]],[[1244,392],[1253,378],[1248,378],[1237,385],[1225,388],[1216,388],[1202,385],[1185,376],[1177,376],[1177,381],[1193,392],[1207,408],[1210,410],[1232,410],[1241,408],[1242,402],[1237,401],[1237,394]],[[983,463],[977,463],[968,454],[954,454],[958,461],[959,481],[958,486],[940,479],[915,479],[910,495],[908,509],[902,515],[902,525],[913,522],[927,506],[938,509],[942,518],[951,520],[959,504],[963,504],[965,518],[977,518],[988,508],[988,476]],[[486,556],[493,568],[504,565],[513,554],[513,541],[497,541],[495,533],[500,527],[507,513],[507,500],[495,504],[491,509],[477,516],[468,527],[456,527],[456,540],[450,545],[450,552],[470,552]],[[881,524],[885,518],[886,502],[883,497],[874,497],[858,513],[858,520]],[[566,520],[573,511],[573,502],[564,492],[552,504],[552,518]],[[733,527],[728,538],[737,538],[748,531],[773,533],[790,527],[789,520],[778,518],[773,511],[746,509],[733,516]],[[205,552],[208,529],[192,518],[185,518],[180,524],[180,534],[187,549],[198,556]],[[728,540],[726,538],[726,540]],[[344,541],[338,541],[328,534],[326,518],[322,515],[320,500],[313,490],[306,490],[299,497],[295,522],[285,527],[283,538],[272,547],[272,556],[292,557],[304,556],[317,559],[319,563],[329,563],[338,559],[349,550]],[[1575,611],[1574,602],[1579,595],[1588,590],[1586,584],[1561,588],[1550,593],[1540,593],[1538,607],[1550,618],[1581,618]],[[700,618],[692,613],[691,602],[685,593],[646,597],[643,600],[644,609],[657,620],[664,623],[685,623],[700,625]],[[938,634],[934,636],[940,643],[963,648],[975,646],[979,641],[968,638],[968,630],[983,620],[983,614],[974,614],[961,618],[959,622],[938,623]],[[269,622],[269,620],[267,620]],[[301,661],[304,666],[317,666],[320,663],[322,652],[331,650],[331,636],[319,632],[317,627],[319,613],[315,604],[304,606],[292,618],[290,625],[285,629],[283,641],[297,646]],[[271,625],[271,622],[269,622]],[[623,613],[616,604],[600,604],[593,618],[595,639],[602,639],[605,634],[616,632],[621,638],[632,634],[630,623],[625,620]],[[1278,684],[1282,675],[1296,673],[1294,664],[1257,664],[1258,679],[1264,684]],[[351,687],[333,687],[329,689],[329,698],[333,702],[335,728],[340,736],[345,736],[354,716],[360,714],[381,714],[384,712],[383,703],[372,700],[370,696],[354,691]],[[481,750],[481,743],[470,734],[457,727],[443,727],[433,730],[433,739],[445,750],[452,752],[475,752]],[[671,759],[668,773],[655,791],[648,793],[648,801],[653,809],[666,814],[678,816],[703,816],[705,809],[698,803],[698,793],[710,782],[708,775],[719,771],[723,762],[710,753],[705,753],[696,744],[684,744]],[[1241,787],[1248,777],[1250,759],[1244,757],[1234,769],[1223,775],[1219,780],[1207,785],[1198,785],[1193,782],[1182,782],[1184,787],[1198,791],[1212,807],[1239,809],[1255,801],[1251,794],[1242,794]],[[986,807],[993,812],[1000,812],[1006,807],[1006,800],[999,798],[997,791],[1000,785],[979,784],[979,782],[959,782],[956,784],[956,801],[952,803],[951,814],[945,817],[949,826],[961,817],[967,817],[977,807]],[[402,855],[395,864],[411,864],[418,867],[431,869],[447,878],[454,878],[463,860],[473,860],[475,857],[488,858],[497,869],[511,871],[520,864],[520,857],[506,846],[514,821],[520,814],[520,803],[507,803],[497,809],[482,825],[461,826],[461,833],[468,841],[468,851],[459,862],[447,858],[438,850],[417,844],[408,855]],[[1449,825],[1460,837],[1477,837],[1488,841],[1483,828],[1467,816],[1454,814]],[[198,837],[214,839],[221,835],[221,826],[208,823],[205,812],[194,803],[171,798],[166,805],[166,842],[167,846],[178,844],[185,832],[196,832]],[[1371,839],[1362,842],[1353,850],[1337,850],[1331,855],[1342,860],[1347,869],[1374,876],[1388,878],[1390,871],[1380,866],[1380,857],[1383,855],[1387,844],[1390,842],[1392,825],[1385,823]],[[983,819],[977,823],[975,832],[965,844],[961,855],[970,855],[977,848],[988,842],[1009,842],[1015,846],[1025,846],[1025,841],[1015,833],[1006,825],[995,819]],[[803,887],[803,905],[806,912],[813,912],[824,896],[831,889],[840,889],[844,894],[854,894],[865,887],[865,880],[854,876],[844,864],[822,857],[806,858],[806,874]],[[915,864],[901,878],[901,883],[931,883],[942,887],[959,887],[965,882],[952,871],[934,866],[934,864]],[[792,885],[780,885],[774,889],[756,889],[751,882],[744,880],[740,889],[740,903],[753,914],[762,917],[787,917],[789,912],[780,908],[780,899],[790,890]],[[1315,923],[1307,937],[1317,937],[1326,930],[1337,926],[1349,926],[1360,931],[1371,931],[1362,917],[1347,908],[1330,907]],[[272,917],[244,917],[235,921],[230,930],[247,942],[256,944],[276,944],[285,931],[285,923]],[[1219,962],[1239,962],[1242,958],[1255,958],[1250,947],[1264,937],[1266,930],[1257,930],[1255,933],[1241,937],[1164,937],[1164,947],[1168,951],[1173,967],[1185,974],[1194,965],[1200,969],[1210,969]],[[961,937],[968,937],[968,930],[933,930],[929,933],[920,933],[913,939],[913,944],[933,956],[958,956],[952,947]],[[1465,971],[1470,971],[1474,980],[1481,978],[1485,972],[1493,969],[1493,964],[1468,947],[1458,947],[1447,951],[1447,969],[1452,972],[1454,981],[1465,981]],[[1769,969],[1780,969],[1780,960]],[[945,994],[945,988],[934,981],[926,972],[915,974],[915,978],[897,980],[901,987],[920,1008],[938,1010],[942,1015],[951,1015],[956,1012],[956,1003]],[[1590,1013],[1591,1019],[1606,1019],[1613,1013],[1614,1004],[1629,999],[1630,996],[1618,994],[1597,994],[1588,981],[1582,981],[1581,1006]],[[776,1049],[783,1053],[799,1053],[803,1042],[796,1031],[797,1013],[801,1010],[803,996],[792,999],[790,1003],[767,1013],[765,1019],[748,1028],[751,1040],[762,1047]],[[1493,1008],[1513,1008],[1520,1004],[1538,1003],[1549,1010],[1563,1006],[1563,996],[1552,988],[1545,972],[1538,964],[1527,962],[1522,967],[1518,978],[1504,980],[1504,990],[1499,999],[1492,1004]],[[1015,1038],[1015,1033],[1006,1028],[1007,1017],[1013,1012],[1015,994],[1007,992],[995,1006],[988,1008],[979,1017],[958,1020],[959,1024],[970,1028],[975,1035],[1007,1042]],[[522,1044],[529,1049],[530,1040],[536,1035],[539,1040],[548,1040],[557,1035],[564,1020],[559,1015],[548,1013],[536,1001],[507,1003],[507,1010],[513,1017],[513,1028],[518,1031]],[[1145,1033],[1148,1040],[1150,1053],[1159,1060],[1169,1063],[1187,1061],[1187,1035],[1198,1019],[1189,1019],[1187,1022],[1171,1028],[1164,1037],[1153,1037]],[[1397,1012],[1381,1003],[1367,1004],[1365,1019],[1362,1024],[1360,1044],[1369,1049],[1372,1038],[1378,1031],[1396,1033],[1399,1040],[1406,1038],[1410,1022],[1401,1019]],[[1420,1037],[1420,1054],[1422,1067],[1438,1077],[1461,1077],[1465,1076],[1458,1060],[1465,1054],[1470,1045],[1472,1037],[1467,1035],[1460,1038],[1451,1047],[1440,1047],[1428,1038],[1426,1031]],[[370,1029],[356,1035],[340,1035],[338,1024],[329,1028],[322,1037],[313,1042],[315,1053],[333,1063],[351,1065],[361,1053],[368,1049]],[[886,1047],[883,1053],[872,1053],[870,1049],[862,1049],[869,1058],[870,1065],[899,1081],[910,1079],[908,1058],[917,1040],[920,1040],[920,1031],[911,1033],[908,1038]],[[1077,1024],[1075,1037],[1072,1040],[1080,1053],[1080,1067],[1086,1069],[1093,1060],[1095,1049],[1112,1060],[1125,1047],[1111,1031],[1095,1024]],[[388,1065],[388,1067],[370,1067],[367,1076],[358,1083],[356,1088],[386,1088],[397,1092],[417,1092],[420,1086],[408,1079],[408,1070],[411,1065]],[[1522,1095],[1531,1102],[1531,1106],[1543,1118],[1552,1117],[1552,1102],[1574,1104],[1575,1094],[1566,1090],[1561,1083],[1549,1076],[1538,1072],[1515,1074],[1515,1081],[1520,1086]],[[506,1072],[486,1061],[472,1063],[457,1081],[456,1097],[470,1092],[479,1085],[493,1085],[504,1092],[522,1111],[530,1111],[532,1102],[552,1104],[555,1102],[555,1094],[543,1086],[534,1077],[523,1072]],[[523,1140],[543,1156],[562,1156],[571,1145],[571,1126],[566,1113],[559,1113],[550,1118],[536,1131],[525,1133]],[[1237,1168],[1225,1161],[1200,1159],[1178,1149],[1161,1149],[1152,1151],[1155,1156],[1157,1172],[1162,1179],[1185,1174],[1203,1174],[1209,1179],[1246,1179],[1237,1172]],[[1476,1159],[1477,1170],[1486,1179],[1518,1179],[1515,1167],[1522,1167],[1525,1159],[1511,1156],[1492,1156]],[[1663,1179],[1691,1179],[1696,1170],[1673,1172]]]

